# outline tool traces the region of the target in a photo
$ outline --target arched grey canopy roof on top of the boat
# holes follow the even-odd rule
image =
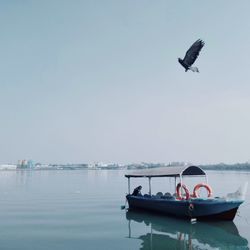
[[[126,174],[125,177],[179,177],[183,175],[205,176],[206,173],[197,166],[181,166],[181,167],[160,167],[141,169],[131,174]]]

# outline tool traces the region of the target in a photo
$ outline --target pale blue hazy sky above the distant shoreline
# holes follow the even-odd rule
[[[250,159],[250,1],[0,1],[0,162]],[[201,38],[184,72],[177,62]]]

